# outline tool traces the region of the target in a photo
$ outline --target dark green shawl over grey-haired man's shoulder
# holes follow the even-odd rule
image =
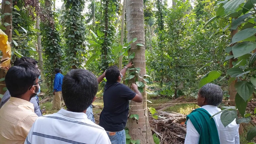
[[[216,123],[208,111],[198,108],[193,110],[186,118],[187,120],[190,119],[200,135],[198,144],[220,144]]]

